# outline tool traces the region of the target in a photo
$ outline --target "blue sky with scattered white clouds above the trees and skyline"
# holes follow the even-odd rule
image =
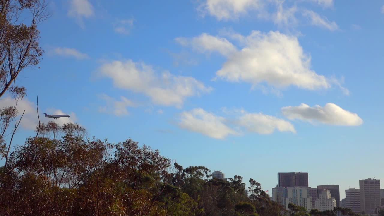
[[[379,0],[52,1],[15,145],[39,111],[132,138],[182,166],[276,186],[381,179],[384,6]],[[9,103],[2,99],[3,105]],[[382,183],[384,184],[384,183]],[[382,187],[383,188],[383,187]]]

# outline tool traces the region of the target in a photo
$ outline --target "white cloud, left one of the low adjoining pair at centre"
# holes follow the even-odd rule
[[[225,125],[224,122],[225,118],[216,116],[201,108],[197,108],[181,113],[179,126],[220,140],[228,135],[238,134],[236,131]]]

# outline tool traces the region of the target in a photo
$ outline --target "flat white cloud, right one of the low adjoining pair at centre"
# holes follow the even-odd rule
[[[262,113],[247,113],[238,119],[237,124],[258,134],[272,134],[275,130],[296,133],[295,127],[288,121]]]

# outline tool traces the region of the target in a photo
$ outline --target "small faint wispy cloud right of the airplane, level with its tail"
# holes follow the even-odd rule
[[[128,100],[126,97],[121,96],[120,100],[116,100],[106,94],[101,94],[100,98],[106,102],[106,106],[100,106],[99,112],[110,113],[116,116],[128,115],[128,106],[136,106],[135,103]]]

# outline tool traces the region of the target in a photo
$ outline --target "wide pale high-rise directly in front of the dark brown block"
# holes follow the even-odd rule
[[[312,197],[309,194],[309,188],[307,187],[273,188],[272,198],[273,201],[276,201],[282,206],[285,206],[287,210],[289,203],[305,207],[308,211],[313,209]]]

